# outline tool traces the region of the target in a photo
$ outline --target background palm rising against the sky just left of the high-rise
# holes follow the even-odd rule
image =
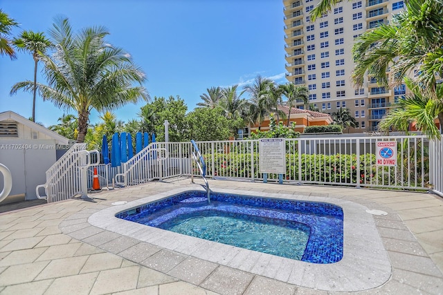
[[[257,75],[253,84],[244,86],[244,90],[249,93],[248,120],[253,124],[258,124],[259,131],[264,120],[264,116],[267,113],[262,96],[264,91],[266,91],[266,88],[268,88],[269,84],[271,83],[271,79]]]

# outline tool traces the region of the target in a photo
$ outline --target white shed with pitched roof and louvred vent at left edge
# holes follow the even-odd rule
[[[0,113],[0,163],[12,174],[10,196],[0,204],[36,199],[35,187],[46,182],[46,170],[73,143],[17,113]]]

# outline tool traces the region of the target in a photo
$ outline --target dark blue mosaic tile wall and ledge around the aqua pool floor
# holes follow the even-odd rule
[[[164,216],[159,216],[151,224],[144,221],[140,222],[140,220],[144,220],[152,213],[160,213],[159,210],[168,209],[188,198],[204,198],[205,195],[206,193],[201,191],[187,191],[170,198],[144,204],[135,209],[120,212],[116,217],[156,226],[181,213],[196,210],[195,205],[192,205],[192,209],[181,208],[165,213]],[[341,207],[323,202],[281,200],[224,193],[211,193],[211,200],[233,204],[232,206],[224,206],[228,209],[220,210],[235,211],[235,213],[243,216],[261,216],[308,225],[311,233],[302,261],[336,263],[343,257],[343,209]],[[197,210],[207,209],[206,207],[210,207],[210,204],[203,203],[203,206]]]

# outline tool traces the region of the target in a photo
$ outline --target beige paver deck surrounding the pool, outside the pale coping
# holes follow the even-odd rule
[[[93,213],[190,180],[152,182],[0,213],[0,294],[334,294],[181,257],[89,225]],[[392,274],[359,294],[443,294],[443,200],[428,193],[210,181],[210,187],[341,198],[368,209]],[[146,267],[146,260],[150,267]],[[343,294],[341,292],[340,294]]]

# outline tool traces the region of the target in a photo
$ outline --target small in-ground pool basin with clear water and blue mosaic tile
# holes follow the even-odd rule
[[[187,191],[117,217],[310,263],[343,257],[343,210],[329,203]]]

